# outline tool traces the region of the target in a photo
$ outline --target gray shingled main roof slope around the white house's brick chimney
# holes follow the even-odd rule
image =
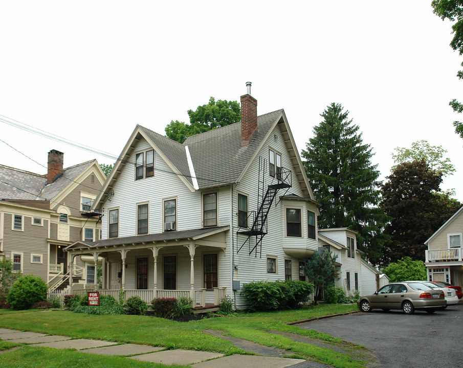
[[[241,147],[241,122],[188,137],[184,145],[200,189],[236,182],[282,111],[257,117],[257,133],[247,147]]]

